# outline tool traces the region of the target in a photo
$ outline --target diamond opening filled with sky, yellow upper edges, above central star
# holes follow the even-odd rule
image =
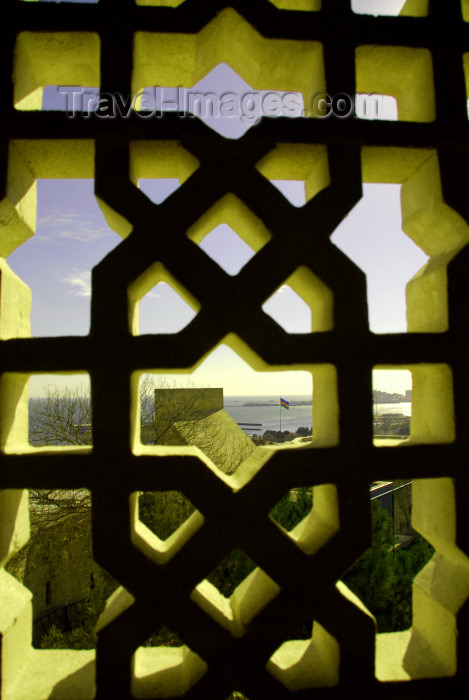
[[[187,236],[230,275],[236,275],[271,238],[262,221],[234,194],[205,212]]]

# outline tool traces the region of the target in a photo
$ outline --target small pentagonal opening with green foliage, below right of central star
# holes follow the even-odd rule
[[[339,530],[337,488],[333,484],[293,488],[269,517],[305,554],[314,554]]]

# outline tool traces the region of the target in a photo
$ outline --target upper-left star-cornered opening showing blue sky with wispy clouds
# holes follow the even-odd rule
[[[91,178],[41,178],[36,187],[36,233],[9,255],[8,264],[31,290],[25,286],[23,294],[32,294],[33,335],[86,335],[91,270],[120,239],[104,219]],[[22,306],[29,324],[26,302]]]

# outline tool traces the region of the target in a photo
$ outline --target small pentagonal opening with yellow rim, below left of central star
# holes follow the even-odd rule
[[[178,491],[134,492],[130,497],[133,544],[158,565],[169,561],[204,522]]]

